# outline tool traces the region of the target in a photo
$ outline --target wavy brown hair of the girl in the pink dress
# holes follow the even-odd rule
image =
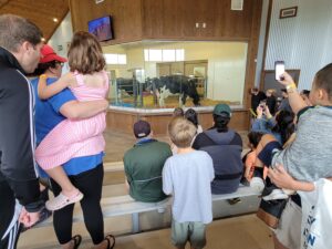
[[[71,72],[82,74],[100,72],[105,68],[105,59],[97,39],[85,31],[77,31],[71,42],[69,52]]]

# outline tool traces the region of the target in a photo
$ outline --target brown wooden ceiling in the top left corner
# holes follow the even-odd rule
[[[48,41],[69,12],[68,0],[0,0],[0,14],[12,13],[34,22]],[[59,21],[54,22],[56,18]]]

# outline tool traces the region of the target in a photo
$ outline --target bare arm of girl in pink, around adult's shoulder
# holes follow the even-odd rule
[[[71,84],[71,74],[65,74],[51,85],[46,85],[46,74],[42,74],[38,82],[38,95],[41,100],[46,100]]]

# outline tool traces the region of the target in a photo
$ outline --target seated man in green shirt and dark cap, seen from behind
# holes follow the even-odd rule
[[[160,201],[166,198],[162,172],[166,159],[172,156],[170,147],[152,138],[151,125],[146,121],[134,124],[134,135],[137,142],[123,158],[129,195],[138,201]]]

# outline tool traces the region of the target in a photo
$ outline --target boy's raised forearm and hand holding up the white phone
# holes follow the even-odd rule
[[[291,75],[289,75],[287,72],[284,72],[281,75],[281,79],[283,79],[283,80],[279,81],[279,82],[286,86],[286,90],[288,93],[288,98],[289,98],[289,104],[292,107],[293,113],[298,114],[299,111],[307,107],[308,105],[300,96],[300,94],[297,90],[297,85],[295,85],[293,79],[291,77]]]

